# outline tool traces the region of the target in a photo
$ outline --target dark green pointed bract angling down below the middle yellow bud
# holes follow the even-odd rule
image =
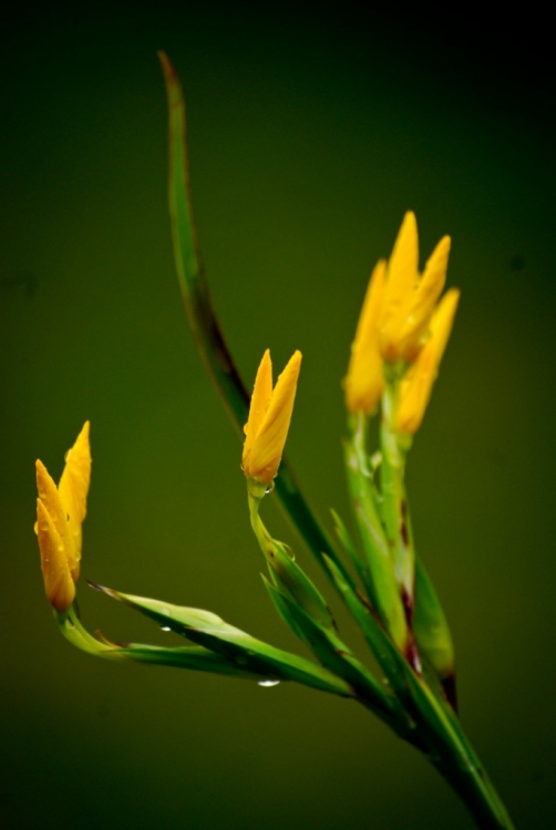
[[[275,605],[282,608],[284,619],[292,620],[295,627],[301,632],[303,642],[309,645],[321,663],[334,675],[349,683],[361,703],[371,708],[382,719],[390,722],[394,710],[393,702],[339,636],[320,625],[288,596],[281,594],[270,582],[265,581],[265,584]]]

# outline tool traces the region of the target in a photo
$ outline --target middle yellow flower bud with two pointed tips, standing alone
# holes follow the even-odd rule
[[[278,473],[288,436],[301,352],[295,352],[272,391],[270,352],[262,355],[255,378],[249,418],[244,427],[243,468],[247,478],[270,484]]]

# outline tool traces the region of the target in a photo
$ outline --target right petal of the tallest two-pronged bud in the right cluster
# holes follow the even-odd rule
[[[446,281],[450,246],[450,237],[443,237],[440,240],[426,261],[416,290],[411,294],[408,317],[402,322],[398,339],[400,355],[406,363],[415,360],[425,342],[432,312]]]

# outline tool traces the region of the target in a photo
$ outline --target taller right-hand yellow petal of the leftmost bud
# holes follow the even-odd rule
[[[85,421],[75,444],[66,453],[65,467],[58,485],[58,492],[68,517],[78,562],[81,559],[82,548],[81,525],[86,516],[86,496],[91,481],[89,426],[89,421]]]

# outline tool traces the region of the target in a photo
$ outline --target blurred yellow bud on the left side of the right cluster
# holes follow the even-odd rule
[[[369,415],[382,395],[384,377],[379,352],[378,321],[382,300],[387,263],[380,260],[369,280],[369,287],[359,317],[356,339],[343,387],[349,412]]]

